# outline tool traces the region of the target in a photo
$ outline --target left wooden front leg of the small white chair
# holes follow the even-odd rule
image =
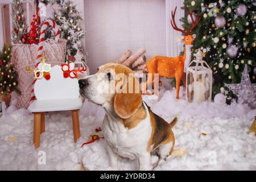
[[[34,113],[34,145],[40,147],[41,113]]]

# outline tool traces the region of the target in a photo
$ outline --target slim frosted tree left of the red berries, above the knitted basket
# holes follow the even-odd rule
[[[24,8],[20,0],[13,1],[13,43],[26,43],[27,42],[27,23],[24,18]]]

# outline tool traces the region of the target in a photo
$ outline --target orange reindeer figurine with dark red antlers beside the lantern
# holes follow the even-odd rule
[[[197,14],[196,22],[193,19],[193,10],[189,12],[188,8],[185,7],[189,16],[192,20],[192,27],[188,28],[188,31],[184,28],[184,30],[178,28],[175,23],[175,13],[172,13],[171,25],[174,30],[182,32],[185,36],[182,40],[185,42],[185,49],[183,56],[177,57],[166,57],[166,56],[154,56],[150,60],[147,61],[147,70],[148,73],[152,74],[152,86],[154,86],[154,73],[159,74],[159,80],[161,77],[173,78],[176,79],[176,98],[179,99],[179,91],[180,91],[180,81],[183,82],[183,85],[186,85],[186,67],[189,65],[191,61],[191,48],[193,44],[193,40],[196,38],[196,35],[191,35],[191,31],[196,27],[197,23],[199,23],[199,14]],[[151,84],[150,80],[147,80],[147,85]]]

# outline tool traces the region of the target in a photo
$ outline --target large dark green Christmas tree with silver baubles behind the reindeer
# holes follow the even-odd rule
[[[255,82],[256,15],[253,1],[192,0],[185,1],[184,6],[195,11],[194,20],[197,14],[201,18],[192,32],[196,34],[192,53],[200,48],[204,60],[213,70],[213,96],[221,92],[230,101],[235,96],[224,83],[240,83],[246,64],[251,82]],[[190,16],[182,21],[184,27],[191,26]]]

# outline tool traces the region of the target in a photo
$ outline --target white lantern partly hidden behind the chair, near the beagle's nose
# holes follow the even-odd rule
[[[88,76],[90,75],[89,73],[89,67],[86,65],[85,61],[82,61],[82,58],[84,57],[84,54],[81,53],[79,50],[77,51],[76,55],[74,56],[75,57],[75,69],[82,69],[82,68],[85,68],[86,71],[80,73],[78,72],[77,73],[77,78],[78,79],[81,79],[81,78],[84,78],[85,76]]]

